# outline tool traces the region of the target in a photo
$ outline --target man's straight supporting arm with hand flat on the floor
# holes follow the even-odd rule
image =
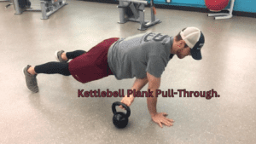
[[[156,89],[160,88],[160,78],[155,78],[153,75],[151,75],[148,72],[147,72],[147,78],[148,78],[148,89],[150,89],[150,91],[153,91],[152,93],[153,97],[147,98],[148,111],[151,115],[152,120],[154,121],[154,123],[159,124],[161,128],[163,128],[162,124],[166,124],[167,126],[172,126],[172,123],[174,121],[172,119],[166,118],[167,116],[166,112],[156,111],[157,97],[155,93],[156,93]]]

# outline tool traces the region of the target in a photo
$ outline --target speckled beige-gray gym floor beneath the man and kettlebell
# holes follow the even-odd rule
[[[131,89],[135,79],[113,76],[80,84],[73,77],[38,75],[39,92],[26,88],[22,68],[55,61],[57,49],[89,50],[109,37],[138,33],[139,24],[120,25],[116,4],[67,1],[40,20],[41,13],[15,15],[0,3],[0,143],[256,143],[256,20],[234,16],[213,20],[205,13],[157,9],[163,22],[145,32],[170,36],[187,26],[204,32],[203,60],[175,56],[160,89],[208,91],[220,97],[158,98],[158,112],[175,120],[163,129],[151,120],[146,98],[131,105],[124,130],[112,124],[111,105],[121,98],[79,98],[78,89]],[[149,9],[146,9],[149,19]],[[147,90],[147,86],[143,90]]]

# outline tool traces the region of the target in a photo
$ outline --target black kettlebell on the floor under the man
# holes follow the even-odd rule
[[[126,109],[126,114],[124,112],[116,112],[115,107],[122,105]],[[117,128],[125,128],[128,124],[128,118],[131,115],[130,107],[126,106],[124,103],[116,101],[112,104],[112,112],[113,112],[113,124]]]

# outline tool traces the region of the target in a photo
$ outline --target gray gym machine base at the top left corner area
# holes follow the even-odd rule
[[[32,9],[29,0],[14,0],[15,14],[22,14],[24,11],[41,11],[42,20],[49,18],[49,15],[54,14],[57,10],[67,5],[66,0],[40,0],[41,9]]]

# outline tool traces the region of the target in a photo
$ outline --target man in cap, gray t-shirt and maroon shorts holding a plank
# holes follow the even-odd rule
[[[193,59],[201,60],[204,42],[204,35],[195,27],[184,28],[176,37],[152,32],[126,38],[112,37],[98,43],[88,52],[56,51],[55,58],[59,62],[48,62],[38,66],[27,65],[23,72],[27,88],[35,93],[38,92],[36,77],[39,73],[72,75],[83,84],[109,75],[119,80],[136,77],[131,89],[139,91],[148,84],[148,89],[153,91],[154,97],[147,97],[147,103],[154,123],[160,127],[162,124],[172,126],[174,121],[166,118],[165,112],[156,111],[155,91],[160,88],[161,74],[173,55],[177,55],[179,59],[192,55]],[[71,61],[68,63],[68,60]],[[133,95],[125,95],[121,102],[130,107],[133,101]]]

